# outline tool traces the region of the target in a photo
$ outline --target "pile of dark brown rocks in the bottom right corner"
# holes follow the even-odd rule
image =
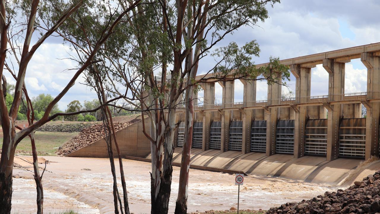
[[[380,171],[355,181],[346,190],[325,192],[311,200],[286,203],[271,208],[267,214],[380,214]]]

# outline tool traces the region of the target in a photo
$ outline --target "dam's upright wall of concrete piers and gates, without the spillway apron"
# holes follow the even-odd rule
[[[367,68],[367,91],[345,93],[345,63],[360,59]],[[295,97],[282,99],[279,84],[268,84],[268,99],[256,100],[256,81],[241,80],[243,102],[234,103],[234,81],[201,83],[203,103],[195,99],[193,148],[369,159],[379,153],[380,44],[357,46],[281,60],[296,78]],[[318,64],[329,75],[328,94],[310,96],[311,69]],[[257,65],[258,67],[265,64]],[[212,75],[212,74],[209,74]],[[202,75],[197,78],[204,77]],[[223,89],[215,104],[215,84]],[[195,97],[198,95],[195,94]],[[367,109],[361,118],[361,109]],[[184,110],[176,121],[184,121]],[[181,147],[184,123],[175,137]]]

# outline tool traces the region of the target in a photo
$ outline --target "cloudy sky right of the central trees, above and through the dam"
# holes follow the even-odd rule
[[[257,40],[261,54],[255,63],[268,62],[269,56],[288,59],[380,42],[380,21],[376,0],[281,0],[269,8],[269,16],[260,27],[239,29],[228,38],[239,45]],[[225,43],[228,43],[225,41]],[[345,93],[366,91],[367,70],[360,59],[346,63]],[[328,73],[321,65],[312,69],[311,95],[328,94]],[[291,75],[289,89],[295,89]],[[222,88],[215,87],[215,97],[222,100]],[[288,91],[287,88],[282,89]],[[242,101],[243,85],[235,82],[234,102]],[[266,82],[258,82],[257,100],[267,97]]]

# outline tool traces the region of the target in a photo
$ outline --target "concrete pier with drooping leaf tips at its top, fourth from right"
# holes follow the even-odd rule
[[[277,78],[281,84],[281,77]],[[272,83],[268,85],[268,105],[280,104],[281,85]],[[279,117],[279,108],[266,108],[266,155],[274,155],[276,153],[276,129]]]

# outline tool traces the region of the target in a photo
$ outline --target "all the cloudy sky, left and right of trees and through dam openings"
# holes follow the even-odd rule
[[[269,57],[288,59],[308,54],[321,53],[358,45],[380,42],[380,21],[377,17],[380,2],[377,0],[282,0],[273,8],[269,6],[269,19],[258,26],[242,27],[233,35],[228,35],[220,46],[234,41],[238,45],[256,40],[260,45],[260,57],[254,57],[256,64],[269,61]],[[25,84],[31,97],[45,93],[56,96],[68,83],[75,63],[68,57],[70,49],[62,41],[49,38],[35,53],[27,68]],[[199,62],[199,73],[206,72],[213,64],[212,57]],[[366,91],[367,70],[360,59],[346,63],[345,93]],[[13,78],[7,75],[9,83]],[[75,85],[58,103],[61,110],[73,100],[96,98],[89,87],[81,83],[79,77]],[[295,78],[291,75],[289,89],[294,90]],[[257,84],[257,100],[267,97],[266,82]],[[234,102],[242,102],[243,85],[235,83]],[[328,73],[321,65],[312,69],[311,95],[328,94]],[[202,92],[199,97],[203,96]],[[222,100],[222,88],[215,85],[215,99]]]

